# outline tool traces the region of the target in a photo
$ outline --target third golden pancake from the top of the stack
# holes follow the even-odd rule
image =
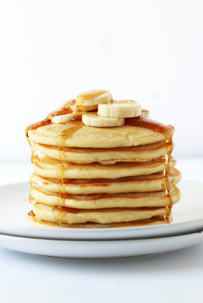
[[[176,160],[170,158],[170,168],[174,167]],[[127,176],[149,175],[166,168],[166,158],[160,157],[148,162],[118,162],[114,165],[102,165],[98,162],[78,164],[65,162],[48,156],[40,158],[33,163],[34,171],[43,177],[89,179],[89,178],[121,178]]]

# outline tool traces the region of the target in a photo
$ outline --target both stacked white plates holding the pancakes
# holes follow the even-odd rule
[[[179,184],[178,184],[179,185]],[[62,258],[125,258],[171,251],[203,241],[203,183],[181,181],[171,224],[102,229],[28,225],[28,182],[0,187],[0,246]]]

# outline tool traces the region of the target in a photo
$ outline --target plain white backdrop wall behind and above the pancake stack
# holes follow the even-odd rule
[[[2,161],[30,161],[26,126],[94,88],[174,125],[175,157],[203,155],[201,0],[5,0],[0,28]]]

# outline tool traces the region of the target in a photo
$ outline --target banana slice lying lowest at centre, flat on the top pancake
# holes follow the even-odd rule
[[[107,118],[97,115],[97,112],[88,112],[82,115],[82,122],[88,126],[111,127],[124,125],[124,118]]]

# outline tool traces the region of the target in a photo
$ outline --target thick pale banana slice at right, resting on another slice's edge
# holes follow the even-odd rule
[[[131,118],[141,115],[141,104],[132,100],[121,100],[98,104],[98,115],[111,118]]]

